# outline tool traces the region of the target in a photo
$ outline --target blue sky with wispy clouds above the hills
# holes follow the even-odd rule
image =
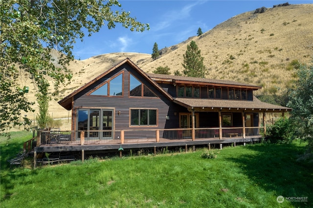
[[[198,28],[206,32],[229,18],[260,7],[273,5],[313,3],[313,0],[119,0],[125,11],[137,21],[149,23],[150,30],[131,32],[116,25],[109,30],[77,40],[74,45],[75,59],[113,52],[152,53],[156,42],[158,49],[170,47],[196,36]]]

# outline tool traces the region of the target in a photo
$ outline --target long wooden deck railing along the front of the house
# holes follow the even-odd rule
[[[243,133],[245,132],[245,134]],[[41,131],[40,145],[125,144],[262,136],[264,127]],[[221,138],[220,138],[221,136]],[[39,141],[37,141],[37,146]]]

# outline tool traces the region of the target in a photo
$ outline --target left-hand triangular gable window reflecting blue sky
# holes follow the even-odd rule
[[[109,80],[104,83],[98,89],[90,93],[90,95],[102,95],[102,96],[122,96],[123,95],[123,74]]]

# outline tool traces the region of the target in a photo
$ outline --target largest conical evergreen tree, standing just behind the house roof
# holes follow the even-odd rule
[[[207,69],[203,64],[204,58],[201,57],[201,50],[198,49],[196,42],[191,41],[190,45],[187,45],[187,50],[183,57],[182,66],[185,68],[183,74],[188,77],[204,78]]]

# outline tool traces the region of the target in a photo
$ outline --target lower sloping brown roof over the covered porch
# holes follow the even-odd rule
[[[254,110],[268,110],[271,112],[290,111],[292,108],[284,107],[275,104],[268,104],[260,101],[253,96],[253,101],[242,100],[217,100],[217,99],[192,99],[192,98],[174,98],[174,103],[182,105],[187,108],[240,108],[240,109],[254,109]]]

